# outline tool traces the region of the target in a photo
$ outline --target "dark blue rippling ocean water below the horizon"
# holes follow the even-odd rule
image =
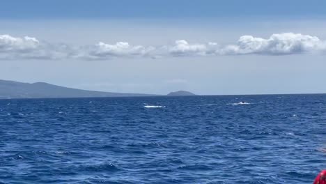
[[[326,95],[0,100],[0,183],[312,183],[325,125]]]

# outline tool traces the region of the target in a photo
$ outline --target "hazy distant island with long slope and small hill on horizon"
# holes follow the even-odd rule
[[[194,95],[187,91],[176,91],[168,94]],[[45,82],[24,83],[0,80],[0,99],[6,98],[88,98],[88,97],[128,97],[128,96],[163,96],[142,93],[113,93],[103,91],[88,91],[56,86]]]

